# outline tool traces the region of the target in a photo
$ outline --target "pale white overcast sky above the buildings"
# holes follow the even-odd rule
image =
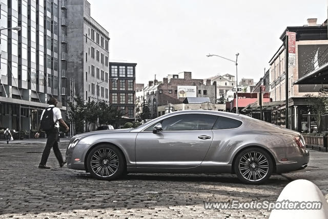
[[[136,83],[192,72],[204,79],[226,73],[257,82],[282,45],[287,26],[327,19],[327,0],[88,0],[108,32],[109,59],[133,62]]]

